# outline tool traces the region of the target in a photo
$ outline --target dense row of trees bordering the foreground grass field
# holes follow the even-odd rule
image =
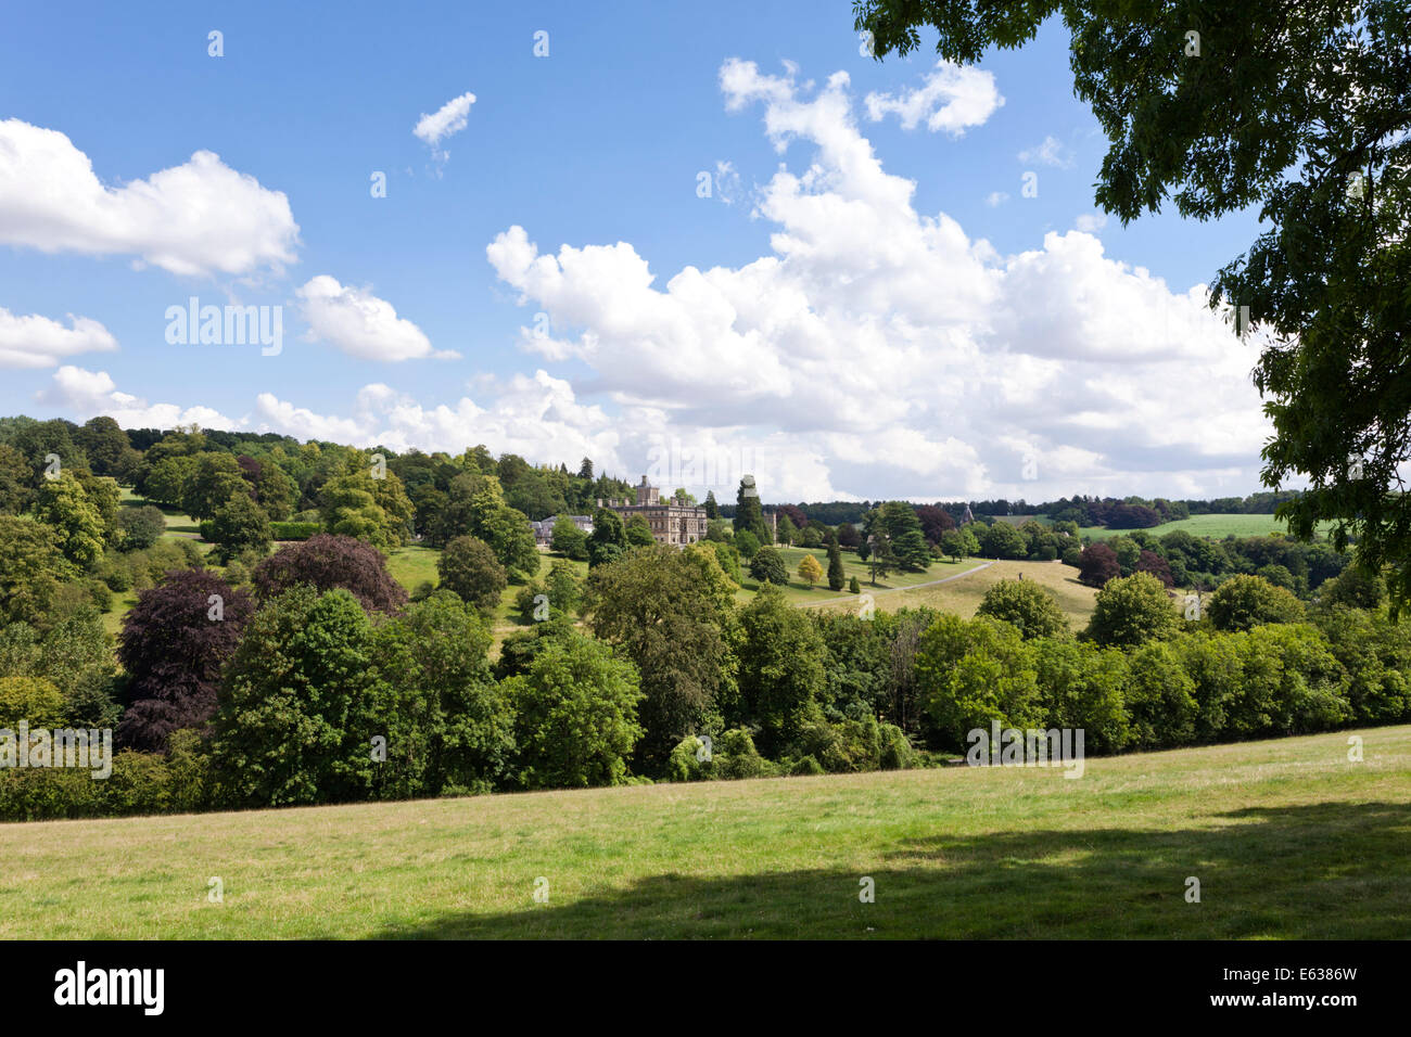
[[[96,617],[10,625],[0,724],[111,721],[116,689],[124,752],[107,790],[11,772],[0,811],[912,766],[991,720],[1082,727],[1089,751],[1115,752],[1411,717],[1411,646],[1384,586],[1352,571],[1311,610],[1230,580],[1194,621],[1156,577],[1119,577],[1075,638],[1031,581],[996,584],[974,621],[862,618],[793,608],[769,584],[741,607],[710,543],[631,547],[586,584],[560,564],[494,665],[454,566],[409,601],[377,549],[330,535],[282,547],[248,588],[171,571],[123,624],[120,676]]]

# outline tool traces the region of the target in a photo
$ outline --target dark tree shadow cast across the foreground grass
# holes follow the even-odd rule
[[[522,909],[377,938],[1407,938],[1408,847],[1408,803],[1254,807],[1180,831],[935,834],[866,869],[653,875],[569,903],[553,903],[552,873],[550,903],[532,903],[526,872]]]

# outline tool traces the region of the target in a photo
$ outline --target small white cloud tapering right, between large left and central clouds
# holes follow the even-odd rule
[[[459,353],[433,351],[430,339],[392,303],[365,288],[343,286],[327,274],[312,278],[295,291],[301,313],[309,325],[309,339],[322,340],[361,360],[402,361],[433,357],[454,360]]]

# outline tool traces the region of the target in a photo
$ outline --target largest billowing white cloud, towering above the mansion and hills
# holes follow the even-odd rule
[[[776,150],[807,145],[758,190],[769,254],[663,279],[631,243],[540,251],[512,224],[487,258],[552,327],[522,348],[584,364],[576,387],[649,427],[787,443],[799,474],[777,485],[809,499],[1257,483],[1254,357],[1202,288],[1173,292],[1085,233],[1003,257],[917,212],[858,131],[845,73],[813,89],[731,59],[720,83]]]

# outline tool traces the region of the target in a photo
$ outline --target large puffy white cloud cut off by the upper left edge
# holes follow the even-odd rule
[[[0,121],[0,243],[44,253],[133,255],[182,277],[282,272],[299,226],[289,199],[219,155],[123,186],[56,130]]]

